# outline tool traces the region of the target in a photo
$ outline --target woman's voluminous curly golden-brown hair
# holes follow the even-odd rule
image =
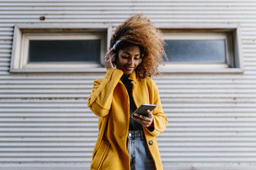
[[[125,20],[112,35],[109,49],[118,40],[140,47],[142,62],[135,70],[139,79],[159,74],[158,67],[164,65],[163,56],[166,58],[165,43],[161,31],[152,25],[150,18],[140,13]]]

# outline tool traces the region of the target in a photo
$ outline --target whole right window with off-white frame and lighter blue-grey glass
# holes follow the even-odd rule
[[[163,29],[163,36],[163,72],[243,72],[237,28]]]

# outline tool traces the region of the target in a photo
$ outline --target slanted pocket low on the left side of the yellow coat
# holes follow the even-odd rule
[[[102,163],[106,157],[108,148],[109,148],[108,141],[102,140],[100,143],[99,149],[97,150],[95,156],[93,157],[91,169],[96,170],[96,169],[100,168],[100,166],[102,165]]]

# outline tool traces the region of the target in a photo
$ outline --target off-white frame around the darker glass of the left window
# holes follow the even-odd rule
[[[18,24],[13,37],[10,73],[103,72],[104,55],[111,38],[111,25]],[[67,31],[68,30],[68,31]],[[100,39],[100,62],[28,62],[29,40]]]

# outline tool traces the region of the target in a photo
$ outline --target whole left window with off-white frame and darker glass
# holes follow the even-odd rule
[[[10,72],[102,71],[107,32],[108,28],[16,25]]]

